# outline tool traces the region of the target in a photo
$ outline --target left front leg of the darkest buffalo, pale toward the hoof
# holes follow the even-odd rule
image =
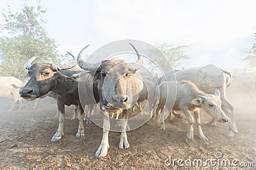
[[[64,119],[65,119],[65,104],[61,103],[60,100],[57,100],[57,105],[58,105],[58,113],[60,113],[59,127],[58,127],[56,134],[54,134],[54,136],[52,136],[51,141],[60,140],[64,134],[63,124],[64,124]]]

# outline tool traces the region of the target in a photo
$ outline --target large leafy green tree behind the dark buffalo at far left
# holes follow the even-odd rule
[[[60,63],[57,57],[57,45],[45,31],[45,21],[42,19],[46,11],[37,7],[24,7],[14,13],[8,6],[2,13],[4,23],[0,25],[0,76],[15,76],[22,78],[27,72],[24,68],[26,60],[34,55],[44,53],[38,61]]]

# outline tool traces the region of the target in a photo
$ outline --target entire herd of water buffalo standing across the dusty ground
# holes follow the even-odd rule
[[[69,53],[73,60],[57,66],[50,63],[33,62],[40,55],[31,57],[25,64],[28,69],[29,80],[25,83],[14,77],[0,78],[0,97],[12,94],[13,103],[11,110],[22,107],[22,99],[33,101],[45,96],[54,97],[58,106],[59,124],[51,141],[58,141],[63,137],[65,105],[76,106],[73,119],[79,119],[76,138],[84,137],[83,120],[85,106],[90,108],[86,112],[86,121],[90,121],[90,115],[99,106],[102,119],[103,136],[100,146],[95,153],[96,157],[105,157],[108,153],[110,130],[109,117],[117,113],[118,128],[120,128],[119,148],[129,148],[127,138],[128,116],[135,110],[143,111],[141,103],[148,101],[150,118],[157,118],[161,122],[160,129],[164,130],[164,108],[168,115],[180,110],[188,120],[186,137],[193,139],[193,124],[198,127],[198,136],[206,141],[200,122],[200,108],[212,116],[211,125],[216,122],[229,124],[228,137],[234,137],[237,133],[234,117],[234,106],[227,99],[228,90],[243,88],[252,96],[255,90],[254,74],[231,74],[212,64],[204,67],[191,67],[170,71],[156,81],[142,78],[139,73],[143,67],[143,56],[137,48],[130,44],[136,54],[134,62],[125,62],[120,59],[99,60],[90,63],[84,59],[86,49],[84,47],[77,57]],[[81,69],[74,70],[79,66]],[[253,91],[253,93],[252,93]],[[231,92],[232,93],[232,92]],[[254,97],[254,96],[252,96]],[[94,108],[94,109],[93,109]],[[136,109],[137,108],[137,109]],[[145,112],[145,111],[144,111]],[[194,117],[195,121],[194,121]]]

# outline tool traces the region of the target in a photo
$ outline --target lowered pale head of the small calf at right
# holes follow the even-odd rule
[[[207,94],[205,96],[199,95],[200,98],[193,99],[190,103],[195,106],[202,107],[212,117],[217,118],[218,122],[228,122],[228,117],[221,110],[221,100],[219,90],[215,91],[215,94]]]

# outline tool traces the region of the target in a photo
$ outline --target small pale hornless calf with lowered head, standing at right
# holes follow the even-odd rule
[[[205,94],[190,81],[164,81],[156,87],[156,92],[159,92],[159,105],[156,112],[162,111],[160,118],[160,122],[162,122],[160,129],[162,130],[165,129],[164,106],[168,108],[168,111],[181,110],[184,112],[189,122],[188,139],[193,139],[194,118],[190,111],[194,111],[198,134],[200,139],[204,141],[208,139],[204,136],[201,129],[199,108],[203,108],[209,115],[217,118],[218,122],[228,122],[228,117],[221,110],[219,90],[216,90],[214,95]]]

